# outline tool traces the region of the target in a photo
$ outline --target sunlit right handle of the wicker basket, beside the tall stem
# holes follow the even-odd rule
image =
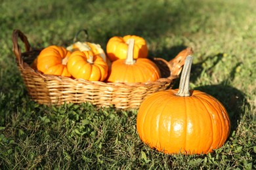
[[[171,69],[171,76],[173,76],[173,77],[179,76],[179,74],[182,71],[182,66],[185,63],[186,57],[188,55],[192,55],[192,54],[193,54],[192,48],[187,47],[186,49],[179,52],[179,54],[175,58],[173,58],[169,61],[169,67]]]

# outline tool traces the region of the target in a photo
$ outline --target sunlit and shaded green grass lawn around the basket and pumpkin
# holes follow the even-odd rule
[[[255,5],[0,1],[0,169],[256,169]],[[140,141],[137,110],[46,107],[30,100],[12,53],[12,30],[25,33],[33,47],[45,47],[72,43],[82,28],[104,49],[112,36],[140,35],[150,56],[168,60],[192,46],[190,87],[217,97],[230,116],[224,146],[207,155],[162,154]]]

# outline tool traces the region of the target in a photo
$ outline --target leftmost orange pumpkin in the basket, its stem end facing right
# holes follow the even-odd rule
[[[37,70],[45,75],[71,76],[66,67],[70,54],[71,52],[62,46],[48,46],[41,50],[35,60]]]

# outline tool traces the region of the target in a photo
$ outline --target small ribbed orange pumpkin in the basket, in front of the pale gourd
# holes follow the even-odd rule
[[[92,61],[90,60],[92,57]],[[74,78],[83,78],[90,81],[104,81],[108,75],[107,63],[91,51],[72,52],[68,59],[68,71]]]

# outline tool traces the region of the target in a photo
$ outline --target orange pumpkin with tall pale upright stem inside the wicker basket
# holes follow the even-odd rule
[[[107,82],[148,82],[160,78],[158,66],[148,58],[133,59],[135,40],[130,39],[127,59],[112,62]]]

